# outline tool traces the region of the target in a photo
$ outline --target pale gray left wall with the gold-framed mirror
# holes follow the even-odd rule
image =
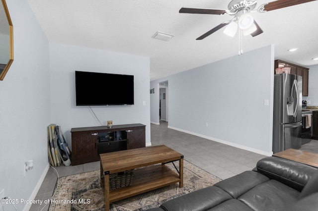
[[[0,81],[0,190],[11,199],[35,196],[48,169],[49,42],[26,0],[6,0],[13,23],[14,60]],[[24,177],[24,163],[34,168]],[[32,198],[32,197],[31,197]],[[25,204],[16,204],[18,211]],[[3,206],[13,211],[13,206]]]

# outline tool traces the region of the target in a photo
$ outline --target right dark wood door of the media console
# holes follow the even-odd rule
[[[146,147],[145,129],[127,130],[127,150]]]

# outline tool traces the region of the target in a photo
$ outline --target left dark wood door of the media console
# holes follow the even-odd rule
[[[72,133],[72,164],[99,160],[97,154],[97,136],[93,133]]]

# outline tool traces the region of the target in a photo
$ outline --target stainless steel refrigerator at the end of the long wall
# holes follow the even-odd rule
[[[302,76],[274,76],[273,153],[302,146]]]

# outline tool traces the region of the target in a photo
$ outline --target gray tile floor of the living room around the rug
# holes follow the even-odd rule
[[[184,159],[205,169],[221,179],[226,179],[255,167],[265,156],[241,150],[225,144],[168,129],[167,122],[151,124],[152,145],[164,144],[184,155]],[[59,166],[60,177],[99,169],[99,161],[75,166]],[[50,167],[36,200],[47,200],[53,195],[57,173]],[[30,211],[47,211],[48,205],[32,205]]]

